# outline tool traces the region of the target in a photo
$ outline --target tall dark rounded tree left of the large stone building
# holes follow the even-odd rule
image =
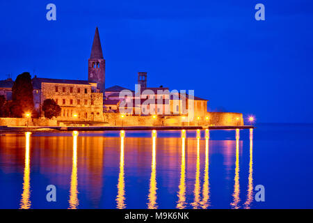
[[[12,88],[13,116],[22,117],[24,113],[33,112],[33,84],[29,72],[23,72],[15,79]]]

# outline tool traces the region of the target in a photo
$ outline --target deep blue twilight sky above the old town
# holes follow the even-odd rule
[[[0,11],[0,79],[88,79],[98,26],[106,87],[134,89],[145,71],[148,86],[194,89],[211,111],[313,123],[311,0],[1,1]]]

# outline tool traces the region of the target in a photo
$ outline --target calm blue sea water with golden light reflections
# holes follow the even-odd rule
[[[0,136],[0,208],[313,208],[313,125]],[[56,202],[47,202],[47,185]],[[255,201],[264,185],[265,201]]]

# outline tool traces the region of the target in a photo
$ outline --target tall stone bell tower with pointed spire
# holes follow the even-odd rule
[[[97,82],[97,89],[102,93],[105,89],[105,68],[106,61],[103,58],[99,31],[98,27],[96,27],[93,47],[91,48],[90,58],[88,59],[88,81]]]

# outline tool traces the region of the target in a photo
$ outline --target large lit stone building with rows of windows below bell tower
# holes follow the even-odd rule
[[[34,104],[40,116],[46,99],[61,107],[58,121],[102,121],[103,93],[97,83],[83,80],[33,78]]]

